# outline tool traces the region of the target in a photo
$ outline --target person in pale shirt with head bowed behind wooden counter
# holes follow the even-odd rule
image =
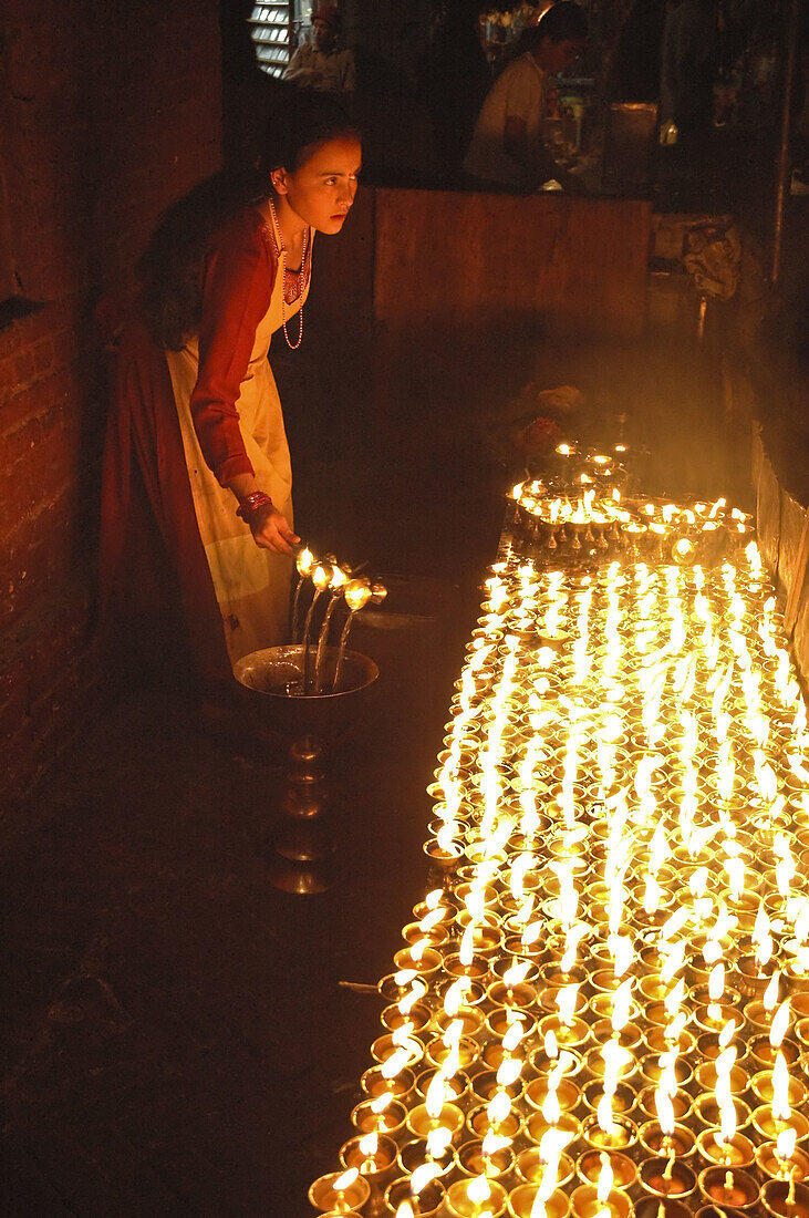
[[[573,0],[558,0],[536,26],[523,30],[524,54],[491,85],[464,162],[466,173],[481,185],[526,191],[550,178],[574,185],[543,143],[543,119],[549,78],[571,67],[586,34],[586,16]]]

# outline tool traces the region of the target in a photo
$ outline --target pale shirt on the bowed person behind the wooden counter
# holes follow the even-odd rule
[[[540,164],[546,99],[547,73],[530,52],[521,55],[489,89],[464,162],[466,172],[504,186],[533,184]],[[506,152],[507,118],[519,118],[526,124],[528,181],[523,169]]]

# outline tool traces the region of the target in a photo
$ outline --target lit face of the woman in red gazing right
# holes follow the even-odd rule
[[[356,194],[363,150],[353,135],[320,144],[297,169],[279,169],[273,183],[296,216],[319,233],[339,233]]]

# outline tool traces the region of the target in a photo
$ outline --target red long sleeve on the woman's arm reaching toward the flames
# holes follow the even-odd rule
[[[255,330],[270,307],[277,257],[264,218],[248,207],[212,238],[202,270],[200,371],[191,418],[202,454],[220,486],[254,474],[236,402],[253,354]]]

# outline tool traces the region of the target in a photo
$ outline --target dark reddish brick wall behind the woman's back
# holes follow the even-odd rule
[[[92,308],[131,285],[162,208],[217,168],[221,88],[217,0],[6,0],[0,22],[5,269],[44,306],[0,330],[0,792],[13,806],[109,695],[92,637],[106,417]]]

